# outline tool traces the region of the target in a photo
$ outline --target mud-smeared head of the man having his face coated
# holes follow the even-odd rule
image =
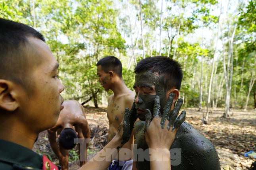
[[[138,117],[145,121],[145,110],[153,113],[154,99],[160,98],[161,112],[170,93],[174,93],[173,104],[179,98],[183,78],[181,65],[167,57],[148,57],[135,67],[134,90]],[[173,106],[172,106],[173,107]]]

